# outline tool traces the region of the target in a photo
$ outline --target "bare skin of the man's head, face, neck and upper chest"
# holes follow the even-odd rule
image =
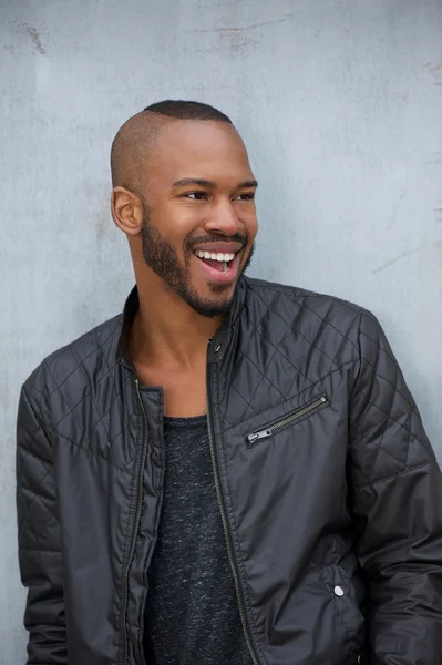
[[[126,234],[140,295],[132,359],[143,383],[163,386],[167,415],[194,416],[205,410],[207,341],[228,310],[257,233],[255,176],[228,123],[144,113],[123,126],[120,140],[125,129],[112,215]],[[176,184],[183,180],[206,184]],[[196,245],[217,243],[225,252],[240,248],[225,284],[194,254]]]

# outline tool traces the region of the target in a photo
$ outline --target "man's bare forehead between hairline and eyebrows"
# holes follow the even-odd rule
[[[185,178],[244,181],[253,177],[248,155],[236,129],[224,122],[175,121],[160,130],[148,180],[164,185]]]

